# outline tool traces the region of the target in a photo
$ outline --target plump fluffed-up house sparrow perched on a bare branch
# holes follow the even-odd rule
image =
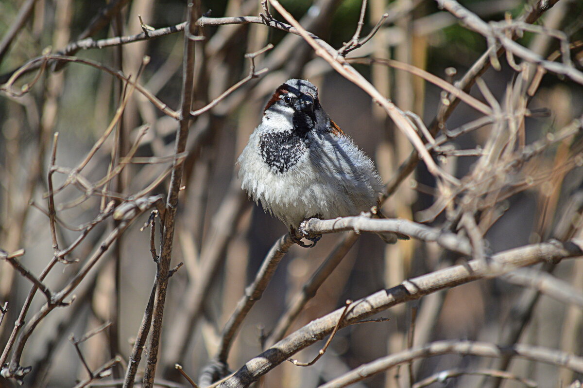
[[[241,188],[303,247],[301,238],[314,246],[320,237],[301,229],[305,219],[358,215],[379,204],[382,181],[373,161],[330,119],[318,88],[304,79],[275,90],[237,163]],[[387,243],[408,239],[380,236]]]

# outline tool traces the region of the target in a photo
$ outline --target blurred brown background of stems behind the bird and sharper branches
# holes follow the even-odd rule
[[[281,3],[305,29],[335,48],[351,39],[359,22],[360,0]],[[518,0],[460,3],[486,22],[520,18],[533,6]],[[15,69],[41,55],[43,50],[57,53],[67,44],[86,37],[100,40],[141,33],[138,15],[154,29],[185,20],[184,1],[130,0],[111,4],[118,6],[118,10],[101,28],[92,29],[94,17],[107,2],[0,1],[3,39],[9,36],[23,12],[28,11],[13,39],[9,44],[2,41],[0,46],[3,50],[0,82],[6,85]],[[210,18],[257,16],[263,12],[258,0],[202,1],[201,9]],[[275,19],[283,20],[272,12]],[[394,59],[455,82],[489,47],[483,36],[460,25],[451,13],[428,0],[369,1],[362,37],[371,32],[384,13],[388,14],[387,20],[375,36],[347,57]],[[562,31],[567,41],[574,43],[571,61],[579,70],[583,61],[581,45],[577,46],[583,38],[581,15],[583,1],[561,0],[536,21],[538,26]],[[250,61],[245,53],[269,43],[274,48],[255,59],[256,69],[268,68],[268,72],[192,120],[188,155],[183,161],[184,190],[180,194],[171,264],[185,265],[170,279],[156,373],[160,386],[168,387],[189,386],[175,372],[175,363],[181,363],[195,378],[215,356],[221,330],[243,296],[245,286],[255,277],[272,244],[286,233],[281,222],[248,200],[236,178],[235,160],[261,121],[263,107],[273,90],[289,78],[305,78],[317,85],[324,109],[375,160],[385,182],[398,173],[398,167],[413,151],[385,111],[373,104],[358,86],[336,74],[301,37],[265,25],[207,26],[203,34],[205,40],[196,43],[193,109],[205,106],[247,76]],[[139,83],[161,102],[178,110],[183,40],[183,33],[178,32],[68,54],[134,77],[140,72],[144,55],[149,56],[149,64],[139,74]],[[524,32],[517,41],[545,58],[560,50],[560,41],[545,33]],[[516,61],[520,63],[518,58]],[[444,95],[438,86],[419,76],[371,62],[355,63],[354,67],[396,106],[412,111],[429,127],[444,99],[447,100],[447,93]],[[489,68],[481,78],[491,92],[491,99],[512,118],[502,123],[476,124],[471,131],[451,135],[462,125],[484,117],[461,103],[442,123],[442,130],[433,133],[435,137],[451,135],[444,137],[441,151],[433,151],[434,160],[463,182],[475,181],[475,186],[466,186],[448,197],[447,187],[436,181],[420,162],[384,202],[385,215],[463,234],[456,211],[461,208],[462,198],[471,198],[487,254],[552,237],[567,240],[578,236],[578,215],[583,208],[583,143],[577,134],[580,124],[578,127],[575,123],[569,137],[556,139],[553,134],[583,114],[583,88],[567,77],[545,74],[529,95],[526,89],[532,85],[535,71],[533,66],[517,71],[502,55],[500,69]],[[38,276],[53,255],[44,196],[48,190],[53,135],[59,132],[56,165],[68,169],[79,165],[113,120],[124,85],[107,72],[79,63],[66,63],[62,69],[47,65],[42,72],[24,74],[16,80],[13,90],[20,90],[25,83],[31,86],[22,96],[7,93],[6,89],[0,92],[0,247],[8,252],[26,249],[19,260]],[[470,95],[491,103],[476,86]],[[137,91],[129,98],[113,134],[83,169],[84,179],[95,183],[107,176],[112,155],[116,152],[118,156],[127,155],[138,138],[139,127],[145,124],[149,129],[136,143],[134,163],[125,166],[108,190],[124,198],[144,188],[151,194],[166,195],[168,177],[156,180],[170,167],[171,159],[163,157],[173,155],[177,122]],[[511,168],[496,170],[490,180],[480,180],[476,169],[483,159],[482,151],[495,135],[514,127],[518,127],[512,135],[514,140],[508,140],[501,152],[504,155],[492,166],[515,163]],[[526,155],[532,151],[528,146],[537,141],[544,146]],[[62,171],[53,176],[55,187],[66,180]],[[79,185],[69,185],[55,195],[57,216],[62,221],[57,223],[62,247],[80,235],[74,226],[83,226],[103,210],[103,198],[108,194],[100,190],[85,195]],[[22,365],[33,367],[24,379],[24,386],[70,387],[75,386],[76,380],[86,379],[87,372],[68,338],[71,334],[79,338],[108,321],[114,324],[80,345],[87,363],[97,368],[115,354],[128,359],[156,274],[149,233],[147,229],[140,231],[147,216],[138,218],[83,279],[74,292],[75,302],[53,310],[34,330],[22,355]],[[111,220],[97,224],[67,257],[80,263],[56,264],[45,284],[55,291],[67,284],[114,226]],[[263,298],[241,327],[228,359],[231,369],[237,370],[261,353],[262,342],[270,340],[270,333],[291,301],[342,238],[340,233],[325,235],[314,249],[291,248]],[[459,260],[465,259],[433,243],[410,240],[385,246],[378,237],[363,233],[287,333],[342,307],[346,299],[363,298]],[[582,291],[582,265],[580,260],[571,260],[539,269],[552,272]],[[8,312],[0,326],[0,348],[8,341],[30,286],[30,281],[10,265],[0,263],[0,303],[8,302]],[[37,292],[28,316],[44,303],[43,294]],[[521,341],[581,355],[580,308],[504,279],[482,279],[442,290],[419,301],[395,306],[378,317],[390,320],[344,328],[315,365],[298,368],[283,363],[257,386],[316,387],[364,362],[401,351],[408,347],[412,317],[416,320],[415,345],[441,339]],[[321,345],[305,349],[296,358],[310,360]],[[413,381],[452,368],[509,368],[511,373],[527,377],[540,387],[568,386],[581,378],[566,369],[540,363],[514,360],[507,366],[499,362],[454,355],[420,360],[413,364]],[[354,386],[408,386],[409,372],[405,369],[394,368]],[[125,368],[115,366],[113,370],[113,377],[108,379],[123,377]],[[142,366],[138,375],[140,370]],[[467,375],[433,386],[478,387],[499,383],[492,377]],[[514,380],[501,384],[524,385]],[[0,387],[13,386],[12,380],[0,377]],[[93,386],[105,385],[96,382]]]

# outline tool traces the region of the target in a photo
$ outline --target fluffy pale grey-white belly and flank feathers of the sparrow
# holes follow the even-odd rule
[[[313,152],[304,152],[293,166],[279,172],[251,151],[257,149],[254,141],[258,139],[250,141],[238,160],[241,187],[288,227],[297,229],[314,216],[356,215],[377,203],[375,182],[366,173],[342,166],[338,156],[314,158]]]

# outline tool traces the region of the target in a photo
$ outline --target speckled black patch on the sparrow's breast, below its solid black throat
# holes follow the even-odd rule
[[[259,137],[261,158],[274,173],[285,173],[308,150],[308,139],[292,132],[268,132]]]

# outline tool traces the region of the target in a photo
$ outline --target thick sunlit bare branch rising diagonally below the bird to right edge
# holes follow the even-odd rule
[[[472,260],[430,274],[406,280],[393,288],[384,289],[356,300],[343,326],[366,319],[408,300],[419,299],[440,289],[454,287],[484,277],[492,277],[542,261],[558,261],[583,255],[583,241],[532,244],[495,254],[490,260]],[[222,388],[243,388],[265,375],[291,355],[331,333],[344,309],[338,309],[291,333],[262,354],[251,359],[233,376],[220,383]],[[583,365],[581,366],[583,368]]]

